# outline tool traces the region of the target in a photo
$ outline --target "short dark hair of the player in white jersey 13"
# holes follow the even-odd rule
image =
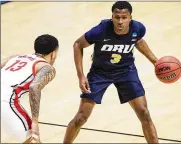
[[[52,35],[44,34],[38,36],[34,42],[35,53],[48,55],[58,48],[58,40]]]

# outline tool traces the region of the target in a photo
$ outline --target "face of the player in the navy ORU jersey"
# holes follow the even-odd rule
[[[125,32],[129,30],[131,14],[127,9],[115,9],[112,13],[112,21],[116,32]]]

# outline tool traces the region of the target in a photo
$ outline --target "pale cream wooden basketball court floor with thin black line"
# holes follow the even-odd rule
[[[1,6],[1,58],[33,53],[38,35],[52,34],[60,50],[56,78],[42,92],[40,133],[43,143],[62,143],[66,126],[80,102],[73,61],[74,41],[102,19],[111,18],[113,2],[10,2]],[[132,2],[133,19],[147,28],[145,40],[157,57],[172,55],[181,60],[181,2]],[[89,71],[93,46],[84,51],[84,72]],[[164,84],[154,67],[135,50],[139,77],[146,90],[148,107],[160,143],[181,142],[181,79]],[[30,112],[28,96],[22,100]],[[52,125],[54,124],[54,125]],[[129,104],[120,105],[116,88],[107,89],[83,126],[76,143],[145,143],[141,124]],[[2,130],[2,129],[1,129]],[[1,133],[1,142],[14,142]]]

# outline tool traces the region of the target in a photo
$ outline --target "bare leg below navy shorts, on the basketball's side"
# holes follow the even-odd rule
[[[144,136],[148,143],[158,143],[156,128],[151,119],[145,96],[129,101],[142,124]]]

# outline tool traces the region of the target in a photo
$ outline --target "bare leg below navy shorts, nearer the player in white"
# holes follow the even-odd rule
[[[80,131],[81,126],[85,124],[85,122],[91,115],[95,104],[96,103],[91,100],[85,98],[81,99],[80,107],[77,114],[68,124],[64,143],[72,143],[74,141]]]

